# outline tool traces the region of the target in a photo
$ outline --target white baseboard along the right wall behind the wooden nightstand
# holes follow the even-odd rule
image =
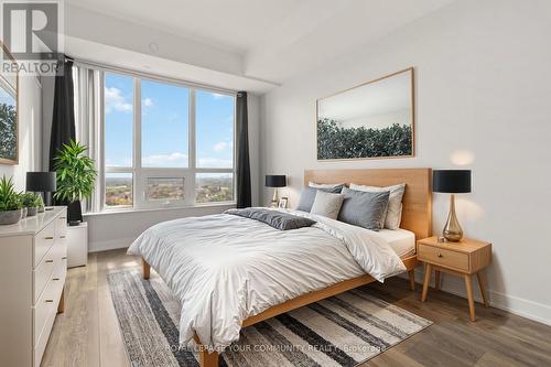
[[[402,277],[408,278],[407,274],[403,274]],[[423,268],[418,268],[415,270],[415,281],[422,284],[423,278],[424,278]],[[443,273],[441,282],[442,282],[441,290],[443,290],[444,292],[452,293],[466,299],[465,282],[463,281],[463,279]],[[434,273],[432,273],[431,276],[431,285],[433,284],[434,284]],[[482,302],[482,296],[478,287],[473,287],[473,289],[475,292],[475,300],[477,302]],[[542,324],[551,325],[551,306],[533,302],[530,300],[521,299],[518,296],[495,292],[491,290],[486,290],[486,292],[488,295],[488,303],[493,307],[504,310],[514,313],[516,315],[537,321]],[[430,301],[430,290],[429,290],[429,301]]]

